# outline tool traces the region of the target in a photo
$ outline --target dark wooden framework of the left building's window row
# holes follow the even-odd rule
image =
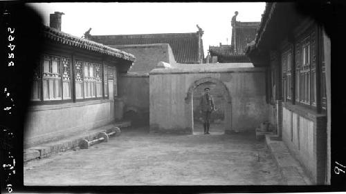
[[[58,73],[53,73],[53,66],[51,60],[48,61],[48,72],[44,72],[44,60],[45,59],[57,59],[57,72]],[[79,64],[80,61],[82,64]],[[83,62],[93,64],[93,80],[95,82],[95,87],[93,88],[93,95],[92,97],[85,97],[84,95],[84,65]],[[68,64],[66,66],[66,63]],[[35,67],[34,70],[34,75],[33,75],[33,81],[36,81],[38,84],[36,86],[35,94],[34,90],[32,91],[32,95],[30,97],[30,102],[35,105],[39,104],[63,104],[67,102],[76,102],[76,101],[86,101],[86,100],[94,100],[94,99],[108,99],[108,95],[105,95],[106,92],[108,92],[108,83],[104,83],[104,65],[103,61],[102,63],[94,62],[94,61],[84,61],[84,60],[79,60],[75,59],[73,55],[66,57],[64,55],[58,56],[58,55],[52,55],[48,53],[42,54],[38,61],[38,66]],[[80,70],[77,70],[77,67],[80,66]],[[47,66],[46,66],[47,67]],[[88,78],[90,77],[90,66],[88,67],[89,73],[88,73]],[[47,70],[46,70],[47,71]],[[60,81],[60,98],[59,99],[44,99],[44,80],[51,79],[45,77],[48,75],[59,75],[55,76],[55,80]],[[107,77],[107,75],[106,75]],[[66,86],[66,82],[69,83],[69,95],[66,95],[66,90],[64,91],[64,86]],[[78,98],[77,97],[77,89],[76,85],[81,84],[81,93],[82,97]],[[107,88],[105,87],[107,86]],[[98,87],[99,93],[98,93]],[[48,88],[49,89],[49,88]],[[106,91],[107,90],[107,91]],[[39,98],[33,99],[33,97],[39,95]],[[64,97],[65,95],[65,97]]]

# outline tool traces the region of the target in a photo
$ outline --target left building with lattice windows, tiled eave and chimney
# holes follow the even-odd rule
[[[61,17],[62,13],[55,14]],[[44,26],[42,30],[44,52],[33,76],[24,147],[113,122],[117,109],[113,99],[121,87],[118,74],[127,72],[135,59],[60,29]]]

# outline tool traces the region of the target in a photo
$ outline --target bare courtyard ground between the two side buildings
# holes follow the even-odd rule
[[[201,126],[195,125],[200,134]],[[125,128],[87,150],[24,165],[24,185],[277,185],[286,184],[254,132],[157,135]]]

